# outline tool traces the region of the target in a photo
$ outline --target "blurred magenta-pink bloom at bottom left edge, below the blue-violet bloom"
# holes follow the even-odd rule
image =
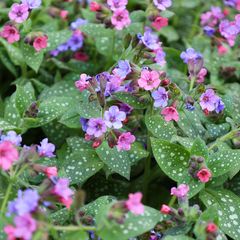
[[[33,233],[37,230],[37,222],[30,214],[16,216],[14,224],[15,226],[7,225],[4,227],[4,232],[9,240],[31,240]]]

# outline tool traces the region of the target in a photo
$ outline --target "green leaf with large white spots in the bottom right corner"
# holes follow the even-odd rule
[[[200,199],[210,207],[217,205],[220,228],[231,238],[240,239],[240,198],[228,190],[206,189]]]

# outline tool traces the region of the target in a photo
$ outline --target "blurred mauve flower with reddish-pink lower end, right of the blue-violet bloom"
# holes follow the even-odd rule
[[[59,197],[59,201],[63,203],[66,208],[70,208],[73,202],[72,196],[74,192],[69,188],[69,180],[67,178],[58,179],[52,193]]]

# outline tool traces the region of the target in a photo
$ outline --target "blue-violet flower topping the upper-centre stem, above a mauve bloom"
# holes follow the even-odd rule
[[[138,38],[147,48],[151,50],[157,50],[160,48],[161,44],[159,42],[158,35],[152,33],[152,30],[150,28],[146,28],[143,36],[141,34],[138,34]]]

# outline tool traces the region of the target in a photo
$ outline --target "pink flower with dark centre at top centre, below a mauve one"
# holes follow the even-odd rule
[[[117,30],[122,30],[131,24],[131,19],[129,18],[129,13],[126,9],[117,9],[111,18],[112,25]]]

